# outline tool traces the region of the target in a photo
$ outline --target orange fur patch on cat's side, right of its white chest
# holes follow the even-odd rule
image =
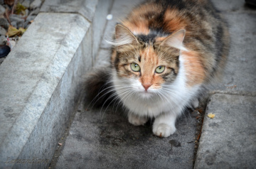
[[[195,51],[183,51],[181,55],[184,58],[187,85],[192,87],[201,84],[206,79],[206,72],[201,63],[200,55]]]

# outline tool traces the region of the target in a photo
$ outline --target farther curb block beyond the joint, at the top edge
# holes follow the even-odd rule
[[[92,22],[92,56],[95,60],[112,2],[113,0],[46,0],[41,7],[41,12],[80,13],[88,21]]]

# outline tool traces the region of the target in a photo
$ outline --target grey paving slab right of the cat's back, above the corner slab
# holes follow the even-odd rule
[[[211,90],[256,92],[256,13],[225,13],[230,27],[230,55],[223,82]]]

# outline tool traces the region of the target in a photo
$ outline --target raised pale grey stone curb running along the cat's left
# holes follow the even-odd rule
[[[78,104],[82,75],[93,65],[112,3],[82,2],[83,13],[39,13],[0,66],[0,168],[50,163]]]

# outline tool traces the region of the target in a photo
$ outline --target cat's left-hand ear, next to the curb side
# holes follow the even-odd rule
[[[137,44],[139,41],[134,36],[134,34],[129,31],[129,29],[122,24],[117,24],[115,26],[115,44],[114,45],[127,45],[127,44]]]

